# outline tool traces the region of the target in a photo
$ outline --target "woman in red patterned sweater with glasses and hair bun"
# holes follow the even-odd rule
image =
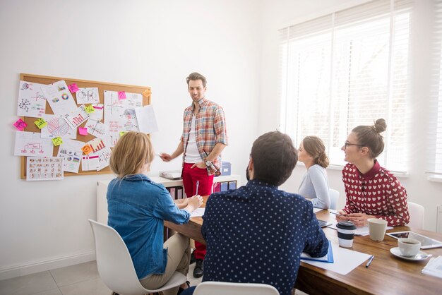
[[[347,136],[341,148],[348,162],[342,169],[347,200],[338,222],[350,220],[357,227],[367,225],[369,218],[385,219],[393,227],[410,222],[407,191],[376,160],[383,151],[380,133],[386,128],[386,121],[378,119],[374,126],[357,126]]]

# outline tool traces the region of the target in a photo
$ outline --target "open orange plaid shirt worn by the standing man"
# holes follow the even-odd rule
[[[227,129],[225,123],[225,116],[222,107],[215,102],[210,102],[203,98],[198,102],[200,109],[196,114],[195,121],[195,136],[198,152],[201,155],[201,159],[207,157],[217,143],[228,145],[227,142]],[[187,143],[189,140],[189,133],[191,131],[193,103],[190,107],[184,109],[183,115],[183,135],[181,141],[184,143],[183,163],[186,156]],[[221,155],[213,160],[213,165],[220,170]],[[215,171],[210,171],[208,167],[208,174],[214,174]]]

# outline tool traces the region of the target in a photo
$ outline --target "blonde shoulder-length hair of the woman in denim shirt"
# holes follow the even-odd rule
[[[112,150],[109,166],[118,178],[138,174],[144,164],[153,161],[155,152],[145,133],[130,131],[121,136]]]

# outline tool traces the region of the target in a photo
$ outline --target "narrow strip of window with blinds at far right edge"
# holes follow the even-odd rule
[[[431,108],[429,111],[429,151],[426,170],[442,174],[442,1],[437,0],[433,31],[432,60],[434,80],[431,81]],[[434,136],[436,135],[436,136]]]

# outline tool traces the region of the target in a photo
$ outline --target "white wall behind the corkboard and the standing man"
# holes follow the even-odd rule
[[[199,71],[227,116],[224,159],[242,175],[258,135],[260,17],[253,0],[0,1],[0,279],[94,259],[87,219],[96,217],[97,181],[112,178],[20,179],[19,73],[152,87],[155,150],[173,152],[191,103],[184,79]],[[152,170],[180,167],[156,159]]]

